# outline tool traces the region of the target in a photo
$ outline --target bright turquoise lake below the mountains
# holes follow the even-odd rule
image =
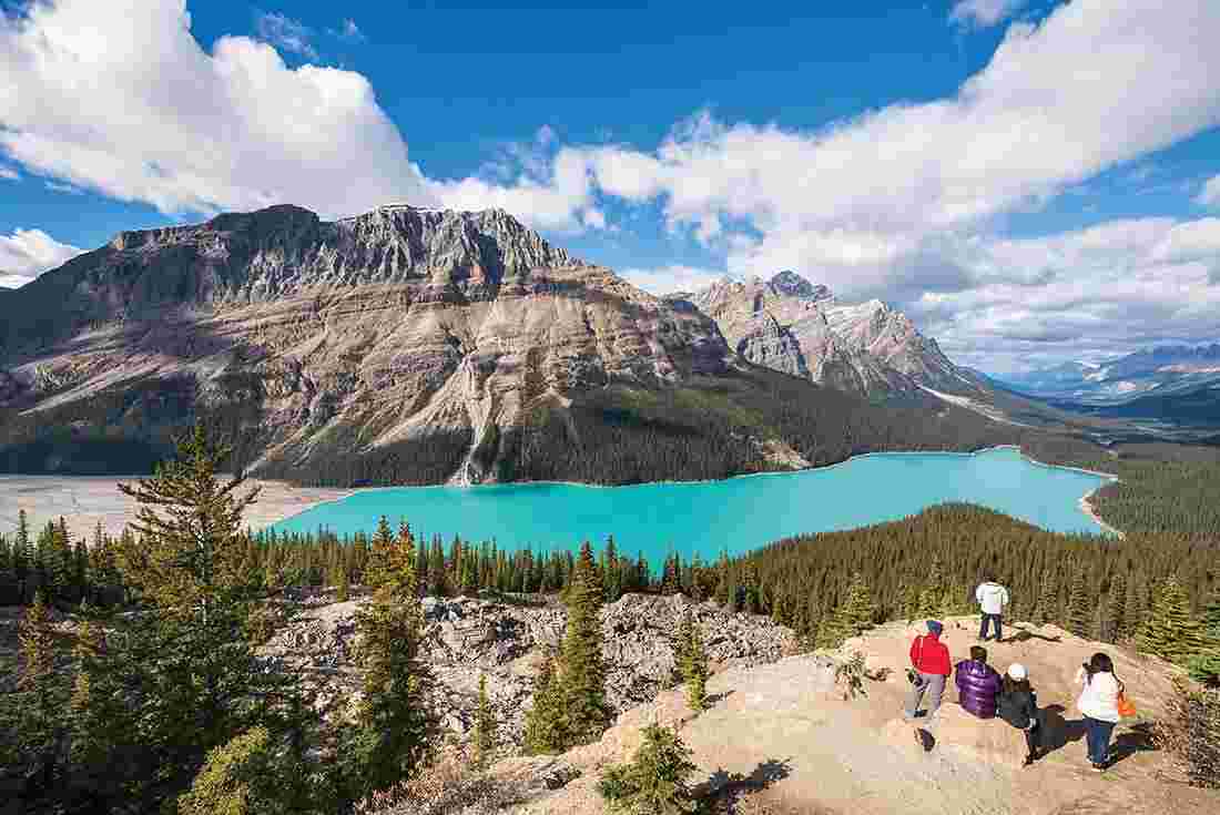
[[[969,501],[1057,532],[1104,534],[1080,499],[1109,478],[1030,461],[1011,448],[884,453],[832,467],[725,481],[586,487],[561,483],[362,489],[274,525],[277,532],[372,532],[386,515],[416,537],[494,539],[534,550],[595,547],[654,564],[669,551],[715,558],[805,532],[898,520],[946,501]]]

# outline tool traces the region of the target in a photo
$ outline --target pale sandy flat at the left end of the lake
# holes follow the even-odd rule
[[[0,533],[16,530],[17,511],[24,509],[30,522],[39,526],[62,515],[73,539],[92,539],[98,521],[110,534],[118,534],[134,520],[135,501],[118,492],[116,484],[139,477],[0,475]],[[248,483],[262,487],[259,500],[245,511],[246,525],[255,530],[353,493],[350,489],[294,487],[282,481],[251,478]]]

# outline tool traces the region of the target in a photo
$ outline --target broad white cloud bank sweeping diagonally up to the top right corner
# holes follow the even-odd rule
[[[703,113],[655,151],[584,155],[601,192],[660,200],[671,224],[733,246],[733,271],[905,287],[937,273],[946,235],[1220,124],[1220,49],[1200,32],[1220,35],[1220,4],[1076,0],[1010,27],[952,98],[814,132]]]

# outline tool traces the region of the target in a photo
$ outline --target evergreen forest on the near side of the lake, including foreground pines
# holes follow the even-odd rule
[[[23,606],[16,653],[0,653],[0,791],[28,811],[353,811],[438,760],[433,681],[417,647],[426,595],[558,594],[567,605],[526,722],[526,747],[540,753],[609,725],[598,610],[632,592],[770,615],[816,648],[887,620],[969,614],[991,573],[1009,587],[1013,619],[1122,643],[1182,665],[1197,687],[1220,687],[1214,451],[1043,439],[1026,453],[1119,475],[1093,503],[1121,537],[1052,533],[972,505],[653,564],[614,538],[576,553],[422,540],[410,519],[382,517],[350,537],[254,533],[242,514],[256,489],[227,477],[231,450],[200,425],[155,476],[122,487],[139,506],[122,534],[99,527],[73,540],[63,519],[21,512],[16,533],[0,537],[0,605]],[[282,622],[272,610],[287,612],[279,600],[306,587],[366,598],[357,699],[318,699],[257,655]],[[57,625],[68,615],[71,633]],[[680,633],[699,710],[706,656],[697,632]],[[1210,715],[1197,711],[1214,699],[1198,694],[1218,692],[1183,695],[1196,711],[1187,719]],[[479,764],[493,727],[481,714]],[[293,781],[270,781],[282,778]],[[643,783],[611,781],[625,797]]]

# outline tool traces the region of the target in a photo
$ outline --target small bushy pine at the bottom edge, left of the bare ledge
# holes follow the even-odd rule
[[[691,750],[677,732],[660,725],[644,728],[632,761],[606,767],[598,792],[611,811],[631,815],[687,815],[697,811],[687,780],[695,771]]]

